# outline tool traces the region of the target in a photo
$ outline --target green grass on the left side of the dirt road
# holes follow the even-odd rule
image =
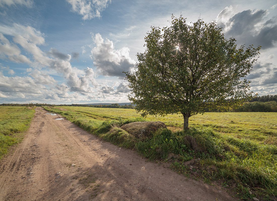
[[[34,113],[35,110],[27,106],[0,106],[0,159],[10,146],[23,139]]]

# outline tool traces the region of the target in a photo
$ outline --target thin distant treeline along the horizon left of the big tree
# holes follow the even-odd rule
[[[92,108],[125,108],[125,109],[135,109],[134,105],[119,105],[117,103],[112,103],[111,105],[85,105],[85,104],[47,104],[47,103],[3,103],[0,106],[81,106],[81,107],[92,107]]]

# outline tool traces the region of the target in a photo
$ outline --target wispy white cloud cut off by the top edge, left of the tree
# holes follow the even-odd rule
[[[72,6],[72,11],[83,16],[83,20],[101,17],[101,12],[106,9],[111,0],[67,0]]]

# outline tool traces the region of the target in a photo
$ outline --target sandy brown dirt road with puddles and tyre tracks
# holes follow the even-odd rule
[[[46,113],[0,161],[1,201],[237,200]]]

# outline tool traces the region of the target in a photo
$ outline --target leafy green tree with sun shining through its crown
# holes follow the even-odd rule
[[[125,72],[128,98],[143,116],[181,113],[188,129],[190,116],[241,104],[252,96],[246,76],[260,46],[238,48],[215,22],[201,19],[188,25],[182,16],[172,15],[171,26],[151,28],[144,53],[137,54],[136,71]]]

